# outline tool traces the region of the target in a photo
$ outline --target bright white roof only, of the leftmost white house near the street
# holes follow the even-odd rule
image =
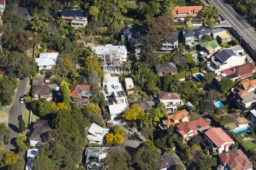
[[[38,66],[54,66],[57,57],[58,53],[40,53],[40,56],[35,58],[35,61],[38,63]]]

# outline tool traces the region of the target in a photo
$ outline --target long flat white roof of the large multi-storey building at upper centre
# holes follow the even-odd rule
[[[127,49],[125,45],[106,44],[105,46],[93,46],[92,49],[95,50],[96,54],[98,55],[115,55],[119,53],[127,54]]]

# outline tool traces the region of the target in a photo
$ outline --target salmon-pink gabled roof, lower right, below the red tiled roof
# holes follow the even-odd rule
[[[230,144],[234,143],[233,139],[229,137],[221,128],[210,128],[204,133],[210,141],[214,143],[217,147],[224,145],[224,143]]]

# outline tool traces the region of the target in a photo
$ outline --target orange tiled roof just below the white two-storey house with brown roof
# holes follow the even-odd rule
[[[186,109],[177,111],[177,113],[175,114],[169,114],[167,116],[167,120],[163,120],[164,124],[166,124],[167,126],[174,126],[177,124],[181,124],[181,122],[179,120],[183,120],[183,118],[187,117],[188,118],[188,111],[186,111]],[[177,122],[175,122],[177,121]]]

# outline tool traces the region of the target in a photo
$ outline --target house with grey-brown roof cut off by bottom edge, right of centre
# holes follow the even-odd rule
[[[170,155],[160,156],[160,158],[156,160],[156,163],[158,164],[159,170],[175,169],[175,166],[178,164],[181,165],[184,170],[187,169],[175,152]]]

